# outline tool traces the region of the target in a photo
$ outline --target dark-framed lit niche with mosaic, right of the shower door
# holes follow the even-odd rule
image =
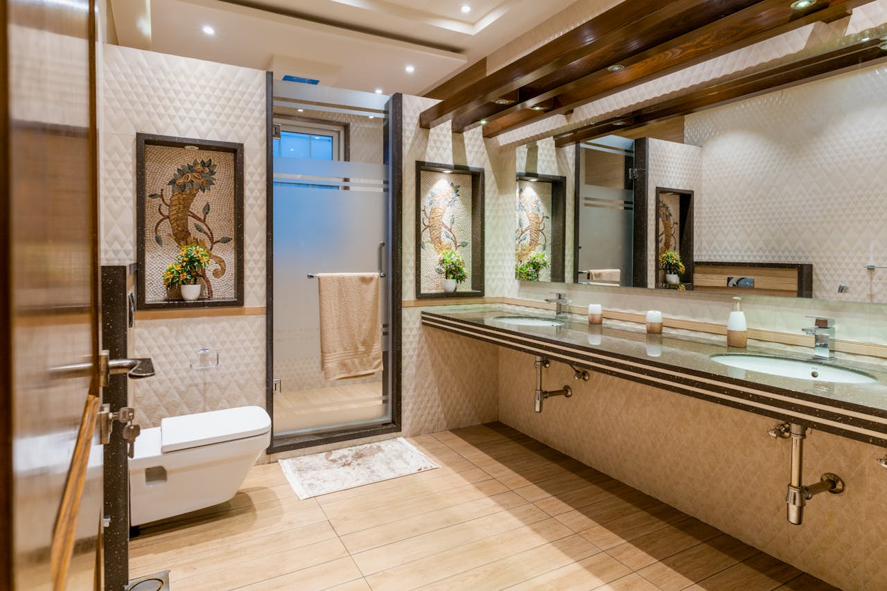
[[[416,162],[416,297],[483,296],[483,169]],[[455,251],[467,278],[445,292],[440,257]]]

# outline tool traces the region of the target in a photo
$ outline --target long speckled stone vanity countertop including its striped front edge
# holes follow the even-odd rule
[[[520,315],[553,319],[553,313],[507,305],[466,308],[423,311],[422,324],[887,445],[887,361],[841,354],[820,361],[813,359],[812,346],[807,349],[753,341],[747,349],[728,348],[724,336],[669,328],[663,329],[663,335],[648,335],[636,323],[604,320],[602,326],[591,326],[575,321],[575,315],[574,321],[568,319],[560,327],[518,326],[496,318]],[[823,365],[836,366],[876,381],[797,379],[725,366],[712,359],[728,353],[797,359],[809,362],[812,371]]]

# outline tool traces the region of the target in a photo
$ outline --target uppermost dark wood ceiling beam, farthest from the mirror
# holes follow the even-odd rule
[[[668,29],[683,32],[685,28],[695,28],[700,12],[717,20],[752,4],[756,4],[756,0],[625,0],[428,108],[420,114],[420,126],[428,129],[450,121],[454,116],[466,114],[503,94],[551,75],[601,47],[612,51],[608,59],[642,51],[646,47],[625,43],[625,39],[632,38],[635,28],[660,31],[654,35],[658,39],[655,43],[660,43],[663,39],[657,35],[664,35]]]

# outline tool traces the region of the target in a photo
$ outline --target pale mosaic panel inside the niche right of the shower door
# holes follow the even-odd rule
[[[440,256],[454,250],[471,269],[471,177],[423,172],[420,204],[420,256],[422,291],[442,290]]]

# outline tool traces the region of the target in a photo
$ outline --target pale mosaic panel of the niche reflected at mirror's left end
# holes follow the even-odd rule
[[[549,244],[552,219],[552,185],[518,181],[517,224],[514,228],[515,260],[518,267],[536,253],[550,261]],[[551,265],[538,271],[538,281],[551,280]]]

